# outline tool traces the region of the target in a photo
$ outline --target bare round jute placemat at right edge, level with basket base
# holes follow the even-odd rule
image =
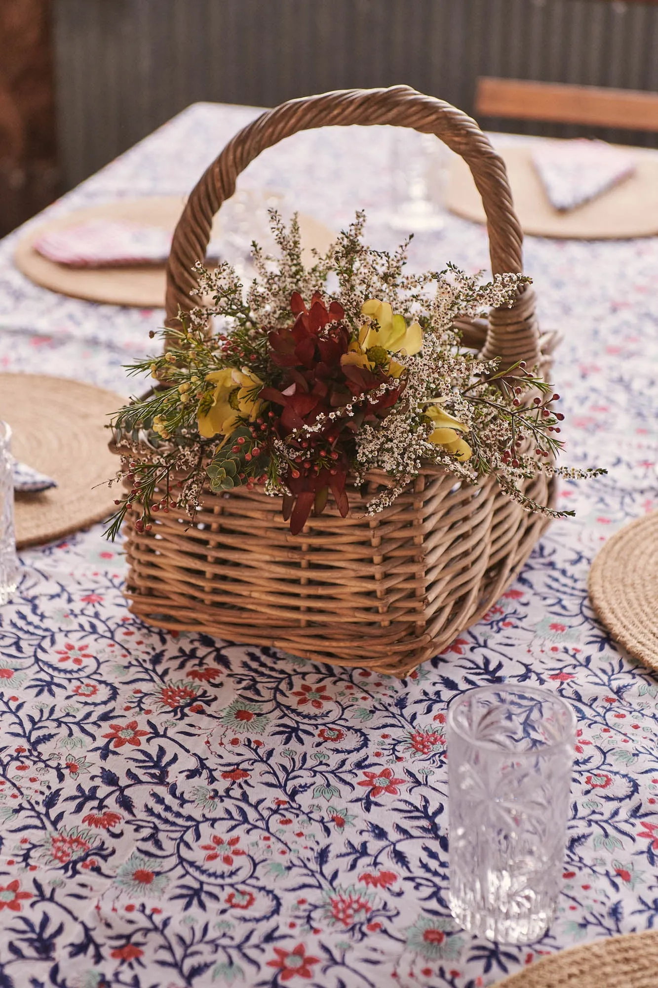
[[[640,662],[658,668],[658,511],[608,539],[592,563],[589,590],[615,640]]]

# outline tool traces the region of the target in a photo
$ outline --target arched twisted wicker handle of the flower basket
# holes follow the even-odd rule
[[[394,124],[434,133],[468,164],[487,216],[494,274],[523,271],[521,225],[512,204],[505,163],[475,121],[433,96],[409,86],[346,89],[289,100],[243,127],[226,144],[193,189],[178,222],[167,262],[167,325],[179,307],[189,311],[196,281],[192,268],[206,257],[212,217],[235,192],[237,176],[261,151],[298,130],[340,124]],[[539,362],[535,293],[522,286],[512,308],[492,309],[482,357],[501,357],[508,367]]]

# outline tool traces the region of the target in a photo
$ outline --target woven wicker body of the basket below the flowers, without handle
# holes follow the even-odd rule
[[[527,493],[552,506],[555,486],[541,474]],[[262,492],[208,492],[195,523],[170,514],[152,534],[126,531],[130,611],[169,630],[403,678],[486,614],[547,525],[495,478],[466,485],[438,468],[379,515],[365,506],[343,519],[329,505],[290,535]]]

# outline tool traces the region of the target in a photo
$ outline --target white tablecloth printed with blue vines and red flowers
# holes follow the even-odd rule
[[[255,113],[192,107],[48,212],[185,193]],[[240,182],[334,228],[366,206],[384,242],[392,139],[296,135]],[[162,313],[31,285],[12,266],[16,236],[0,244],[0,368],[128,394],[122,364]],[[485,267],[484,231],[448,217],[416,237],[412,263],[449,259]],[[0,610],[3,988],[480,988],[652,926],[658,681],[593,617],[586,580],[605,539],[655,506],[658,240],[529,239],[526,266],[543,326],[564,336],[565,459],[610,472],[562,485],[577,518],[405,682],[145,626],[100,526],[23,554]],[[446,708],[501,679],[558,692],[579,720],[559,912],[530,947],[469,938],[446,901]]]

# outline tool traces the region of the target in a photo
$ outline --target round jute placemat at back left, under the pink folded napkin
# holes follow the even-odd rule
[[[148,196],[143,199],[119,199],[102,206],[77,209],[65,216],[48,220],[32,229],[19,240],[14,253],[14,263],[31,281],[43,288],[50,288],[62,295],[84,298],[93,302],[109,302],[111,305],[131,305],[136,308],[161,308],[165,298],[164,265],[126,268],[69,268],[42,257],[34,243],[43,233],[77,226],[89,219],[123,219],[148,226],[160,226],[174,230],[185,206],[182,196]],[[265,209],[265,204],[263,205]],[[299,214],[299,232],[302,254],[306,264],[311,260],[310,250],[315,247],[326,251],[335,239],[331,231],[317,219]],[[221,214],[212,224],[212,237],[221,236]],[[312,263],[312,262],[311,262]]]

